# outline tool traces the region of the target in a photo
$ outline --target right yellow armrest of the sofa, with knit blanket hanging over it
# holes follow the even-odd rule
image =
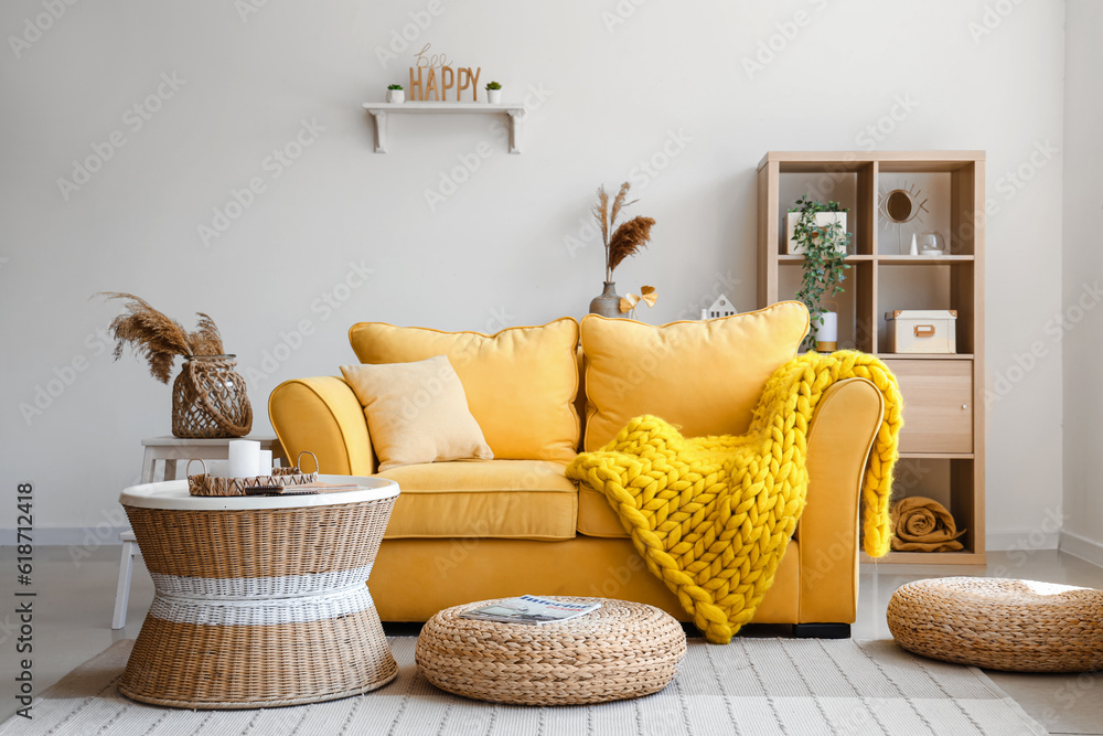
[[[866,378],[824,392],[808,428],[807,504],[797,527],[800,619],[852,623],[857,615],[858,499],[885,402]]]

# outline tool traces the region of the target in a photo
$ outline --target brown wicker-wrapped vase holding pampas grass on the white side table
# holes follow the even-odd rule
[[[191,355],[172,384],[172,434],[216,439],[244,437],[253,429],[245,378],[236,355]]]

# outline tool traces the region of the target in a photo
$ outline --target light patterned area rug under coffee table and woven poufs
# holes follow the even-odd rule
[[[913,657],[891,641],[689,640],[666,690],[589,706],[494,705],[418,675],[413,637],[394,637],[393,683],[342,701],[257,711],[179,711],[128,701],[116,684],[132,641],[117,642],[13,716],[0,734],[302,736],[336,734],[1045,734],[979,670]]]

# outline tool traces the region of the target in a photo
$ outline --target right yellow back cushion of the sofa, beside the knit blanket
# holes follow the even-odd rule
[[[588,314],[583,447],[600,449],[642,414],[686,437],[742,434],[770,374],[796,354],[807,330],[797,301],[662,327]]]

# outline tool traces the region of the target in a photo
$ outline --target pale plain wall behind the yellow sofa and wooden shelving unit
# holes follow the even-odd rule
[[[23,33],[45,1],[4,2],[0,29]],[[714,289],[751,308],[763,153],[876,146],[987,150],[994,372],[1045,339],[1061,307],[1062,157],[1036,152],[1063,148],[1060,3],[1006,3],[1005,18],[953,0],[442,0],[414,45],[481,66],[507,100],[528,96],[526,151],[506,154],[489,118],[395,116],[379,156],[361,104],[404,79],[411,57],[384,70],[374,50],[426,2],[269,2],[243,20],[249,1],[65,6],[19,58],[0,50],[0,491],[34,481],[40,527],[101,521],[136,477],[139,439],[169,431],[169,388],[129,356],[111,364],[95,337],[117,312],[88,300],[99,290],[139,294],[189,324],[211,313],[250,369],[266,431],[279,381],[353,360],[352,322],[493,330],[581,317],[601,253],[592,238],[574,254],[565,243],[602,182],[631,178],[633,212],[658,222],[652,247],[617,271],[622,290],[658,287],[644,319],[694,313]],[[136,130],[127,110],[162,74],[184,82]],[[276,179],[266,157],[303,119],[324,131]],[[57,179],[115,130],[125,146],[66,201]],[[425,191],[481,141],[493,153],[430,211]],[[649,177],[647,160],[665,168]],[[1005,173],[1020,167],[1017,186]],[[266,191],[205,246],[197,226],[253,177]],[[373,274],[326,311],[350,264]],[[260,377],[303,320],[313,333]],[[24,419],[20,405],[82,359]],[[994,403],[989,426],[989,531],[1015,540],[1061,500],[1058,351]],[[13,512],[0,504],[0,527]]]

